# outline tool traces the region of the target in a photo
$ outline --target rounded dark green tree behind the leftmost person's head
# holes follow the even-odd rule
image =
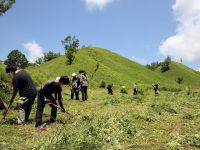
[[[28,66],[28,60],[24,54],[22,54],[19,50],[11,51],[7,60],[5,60],[6,65],[15,65],[19,68],[26,68]]]

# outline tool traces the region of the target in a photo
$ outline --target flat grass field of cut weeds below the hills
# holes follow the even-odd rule
[[[89,100],[69,99],[65,108],[74,118],[58,112],[57,122],[46,131],[14,124],[16,112],[1,120],[0,149],[198,149],[200,148],[200,92],[152,90],[133,96],[106,89],[89,89]],[[50,107],[45,107],[48,122]],[[35,116],[35,106],[31,114]]]

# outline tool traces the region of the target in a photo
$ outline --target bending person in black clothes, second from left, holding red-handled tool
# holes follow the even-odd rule
[[[62,85],[69,84],[69,78],[67,76],[61,76],[57,78],[55,81],[48,81],[44,84],[44,86],[38,92],[38,104],[37,104],[37,112],[36,112],[36,128],[42,128],[42,114],[44,110],[45,103],[47,102],[51,107],[51,117],[50,122],[54,122],[57,114],[57,103],[56,99],[58,98],[58,102],[62,112],[65,112],[65,108],[62,103]],[[55,98],[52,94],[55,94]]]

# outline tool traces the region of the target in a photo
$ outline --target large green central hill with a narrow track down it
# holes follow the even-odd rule
[[[73,72],[78,73],[85,69],[88,73],[91,86],[97,87],[101,81],[113,83],[114,86],[126,85],[132,87],[134,82],[139,85],[150,85],[154,82],[161,84],[176,84],[159,73],[148,70],[136,62],[119,56],[111,51],[87,47],[81,48],[72,65],[66,65],[65,56],[56,58],[50,62],[35,68],[29,68],[38,86],[49,79],[55,79],[60,75],[71,77]]]

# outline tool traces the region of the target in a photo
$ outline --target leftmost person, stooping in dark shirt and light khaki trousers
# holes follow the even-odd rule
[[[37,96],[36,86],[31,76],[23,69],[17,70],[16,66],[8,65],[6,73],[13,74],[13,94],[7,110],[12,106],[19,91],[20,99],[17,101],[18,123],[25,124],[29,119],[32,105]]]

